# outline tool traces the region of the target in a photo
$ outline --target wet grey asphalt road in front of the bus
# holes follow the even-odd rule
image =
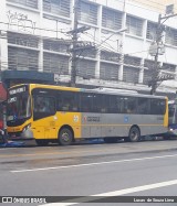
[[[176,140],[4,148],[0,149],[0,194],[31,197],[71,196],[74,199],[80,196],[74,200],[76,203],[85,202],[85,198],[91,198],[88,196],[93,195],[97,200],[106,196],[118,196],[125,200],[125,196],[131,196],[131,198],[137,197],[134,199],[135,203],[124,205],[138,206],[146,205],[136,202],[140,196],[146,198],[176,196],[177,200],[176,162]],[[81,196],[86,197],[81,198]],[[112,200],[105,198],[104,203],[92,203],[92,205],[123,205],[123,203],[108,204]],[[59,205],[59,203],[51,205]],[[170,202],[168,205],[177,205],[177,202]]]

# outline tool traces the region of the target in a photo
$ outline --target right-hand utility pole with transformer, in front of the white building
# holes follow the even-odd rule
[[[167,9],[168,9],[168,6],[166,8],[166,11],[167,11]],[[171,6],[170,6],[170,9],[171,9]],[[163,76],[159,75],[160,66],[158,64],[158,55],[162,55],[162,54],[165,53],[164,44],[162,43],[163,42],[162,37],[163,37],[163,32],[164,32],[163,23],[167,19],[173,18],[175,15],[177,15],[177,14],[170,14],[170,15],[165,15],[165,17],[162,17],[162,14],[158,15],[156,41],[154,42],[154,45],[152,45],[152,48],[154,51],[150,53],[150,55],[155,56],[154,67],[153,67],[153,72],[152,72],[152,80],[150,80],[150,86],[152,86],[150,94],[152,95],[156,94],[157,83],[158,82],[167,80],[167,79],[174,79],[174,75],[169,75],[169,74],[164,74]],[[164,21],[162,22],[162,20],[164,20]]]

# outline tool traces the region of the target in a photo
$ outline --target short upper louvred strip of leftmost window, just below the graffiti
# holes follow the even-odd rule
[[[39,39],[29,34],[8,32],[8,43],[38,48]]]

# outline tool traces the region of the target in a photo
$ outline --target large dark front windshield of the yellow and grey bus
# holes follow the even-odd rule
[[[27,93],[11,96],[8,99],[7,120],[15,121],[31,116],[31,100]]]

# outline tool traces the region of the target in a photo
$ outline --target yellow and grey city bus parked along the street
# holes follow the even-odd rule
[[[136,142],[168,130],[168,98],[118,89],[82,89],[23,84],[8,94],[10,139],[34,139],[39,145],[102,138]]]

